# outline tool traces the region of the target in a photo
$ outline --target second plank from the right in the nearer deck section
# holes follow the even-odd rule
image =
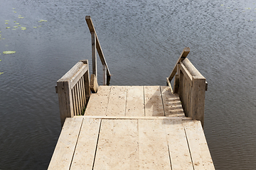
[[[171,157],[171,169],[191,169],[193,164],[182,120],[163,120]]]

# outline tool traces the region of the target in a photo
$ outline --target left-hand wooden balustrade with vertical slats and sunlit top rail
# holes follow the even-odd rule
[[[56,93],[62,126],[65,118],[82,115],[85,111],[90,98],[89,76],[88,60],[82,60],[57,81]]]

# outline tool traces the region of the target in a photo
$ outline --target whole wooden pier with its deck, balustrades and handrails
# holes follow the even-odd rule
[[[110,71],[86,21],[105,85]],[[207,83],[188,53],[181,52],[169,86],[98,86],[95,62],[91,78],[87,60],[78,62],[57,82],[63,129],[48,169],[214,169],[203,133]]]

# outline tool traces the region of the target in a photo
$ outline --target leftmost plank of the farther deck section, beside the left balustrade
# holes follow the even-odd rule
[[[85,115],[106,115],[111,86],[100,86],[97,94],[92,94],[85,109]]]

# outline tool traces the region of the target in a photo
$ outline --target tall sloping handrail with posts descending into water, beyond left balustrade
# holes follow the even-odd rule
[[[96,60],[96,52],[95,52],[95,46],[96,46],[97,52],[100,57],[100,61],[102,62],[102,66],[103,66],[103,84],[106,85],[107,77],[110,78],[111,76],[110,69],[109,67],[107,67],[107,62],[103,55],[102,47],[100,46],[100,41],[97,38],[97,33],[95,30],[95,27],[93,26],[92,18],[90,16],[85,16],[85,21],[92,35],[92,74],[95,74],[97,79],[97,60]]]

